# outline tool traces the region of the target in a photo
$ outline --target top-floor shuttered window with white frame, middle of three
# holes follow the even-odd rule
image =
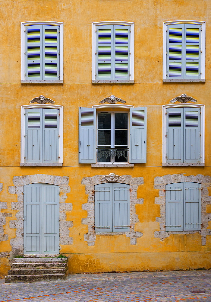
[[[134,23],[93,23],[93,83],[134,82]]]

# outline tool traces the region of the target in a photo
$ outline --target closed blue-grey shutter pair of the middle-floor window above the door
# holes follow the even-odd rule
[[[25,162],[59,162],[59,110],[25,110]]]

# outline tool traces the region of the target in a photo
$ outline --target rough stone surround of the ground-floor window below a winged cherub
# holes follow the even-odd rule
[[[140,185],[143,185],[143,177],[132,177],[131,175],[121,175],[125,178],[124,181],[118,180],[114,183],[128,184],[130,185],[130,232],[95,232],[94,226],[94,189],[95,185],[107,183],[107,181],[100,181],[105,175],[94,175],[92,177],[82,178],[81,184],[85,185],[85,193],[88,194],[88,199],[85,204],[82,204],[82,210],[87,211],[87,217],[82,218],[81,224],[88,226],[88,232],[84,234],[84,241],[87,241],[88,246],[94,246],[97,235],[114,236],[123,235],[130,238],[130,244],[137,244],[137,238],[143,236],[142,232],[135,231],[135,223],[139,222],[136,214],[135,205],[143,204],[143,198],[137,199],[137,189]]]

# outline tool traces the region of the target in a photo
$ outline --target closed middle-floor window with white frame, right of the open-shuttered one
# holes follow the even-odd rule
[[[204,165],[204,106],[163,108],[163,165]]]

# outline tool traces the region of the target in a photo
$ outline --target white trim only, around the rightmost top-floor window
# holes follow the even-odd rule
[[[166,79],[166,31],[169,24],[198,24],[202,27],[201,32],[201,79]],[[163,22],[163,80],[165,82],[205,82],[205,24],[204,21],[180,20]]]

